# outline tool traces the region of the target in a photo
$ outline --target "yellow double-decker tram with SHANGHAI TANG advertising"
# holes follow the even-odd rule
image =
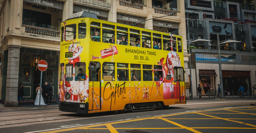
[[[61,111],[186,104],[182,36],[77,12],[61,23],[60,45]]]

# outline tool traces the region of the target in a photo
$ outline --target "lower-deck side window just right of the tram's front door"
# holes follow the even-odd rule
[[[104,62],[102,64],[102,78],[104,81],[112,81],[115,79],[115,63]]]

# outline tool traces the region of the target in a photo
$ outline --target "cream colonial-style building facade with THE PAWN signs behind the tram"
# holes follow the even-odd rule
[[[36,98],[35,89],[40,83],[39,60],[48,63],[42,83],[50,82],[57,97],[60,23],[69,14],[88,11],[101,20],[124,24],[140,22],[136,26],[183,36],[183,44],[186,44],[184,1],[1,0],[0,3],[0,96],[6,107],[18,106],[19,83],[23,83],[25,100]],[[170,5],[175,8],[170,9]],[[173,16],[163,17],[170,14]],[[187,68],[189,55],[186,47],[183,50]],[[188,82],[188,74],[185,80]]]

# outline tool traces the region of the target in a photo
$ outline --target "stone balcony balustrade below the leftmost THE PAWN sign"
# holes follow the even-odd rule
[[[37,34],[37,35],[51,36],[51,37],[58,37],[58,38],[60,37],[59,30],[24,25],[24,24],[22,26],[25,27],[25,32],[29,34]]]

